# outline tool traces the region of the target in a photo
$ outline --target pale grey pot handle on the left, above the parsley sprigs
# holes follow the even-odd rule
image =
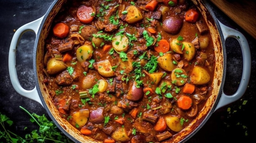
[[[34,33],[37,34],[39,26],[43,20],[43,17],[41,17],[37,20],[34,20],[32,22],[29,22],[17,29],[17,31],[14,33],[13,38],[11,40],[10,49],[9,49],[9,59],[8,59],[9,75],[10,75],[11,84],[12,84],[13,88],[20,95],[27,97],[29,99],[33,99],[33,100],[37,101],[38,103],[40,103],[42,106],[43,106],[43,104],[42,104],[42,101],[40,100],[40,97],[38,95],[38,91],[36,90],[36,87],[32,90],[25,90],[20,85],[20,82],[18,80],[18,75],[17,75],[17,69],[16,69],[16,49],[18,48],[18,43],[20,41],[20,37],[25,32],[33,31]]]

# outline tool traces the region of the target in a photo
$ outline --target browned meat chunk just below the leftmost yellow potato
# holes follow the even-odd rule
[[[56,76],[56,83],[61,86],[69,86],[72,84],[73,79],[67,70],[64,70],[62,73]]]

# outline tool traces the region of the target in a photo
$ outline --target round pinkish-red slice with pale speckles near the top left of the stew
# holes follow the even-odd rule
[[[94,18],[94,9],[90,6],[82,5],[76,11],[76,16],[83,23],[90,23]]]

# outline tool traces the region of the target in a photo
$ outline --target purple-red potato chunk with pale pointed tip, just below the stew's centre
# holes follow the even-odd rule
[[[131,101],[138,101],[139,99],[141,99],[144,95],[143,92],[143,87],[136,87],[136,81],[134,81],[132,87],[129,89],[128,93],[127,93],[127,99],[131,100]]]

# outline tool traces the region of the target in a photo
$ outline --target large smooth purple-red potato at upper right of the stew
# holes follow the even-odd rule
[[[164,20],[163,29],[165,32],[175,35],[180,32],[182,25],[183,20],[177,16],[174,16]]]

